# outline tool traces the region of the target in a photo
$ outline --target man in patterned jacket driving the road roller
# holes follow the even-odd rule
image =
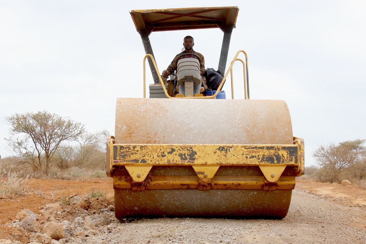
[[[203,55],[201,53],[195,52],[193,50],[193,46],[194,46],[194,39],[193,37],[191,37],[190,35],[187,35],[186,37],[184,37],[183,39],[183,46],[184,46],[184,51],[181,53],[178,53],[171,64],[169,64],[168,68],[166,70],[163,71],[162,75],[163,77],[166,77],[170,74],[172,74],[176,69],[177,69],[177,57],[179,55],[182,55],[184,53],[186,53],[186,55],[184,55],[182,58],[194,58],[194,59],[198,59],[198,57],[194,56],[194,55],[190,55],[190,53],[194,53],[196,55],[198,55],[201,58],[201,63],[200,63],[200,70],[201,70],[201,83],[199,83],[199,85],[195,85],[194,86],[194,94],[199,94],[199,90],[201,90],[201,84],[203,82],[202,80],[202,75],[203,72],[205,71],[205,58],[203,57]],[[198,59],[199,61],[199,59]],[[184,94],[184,86],[179,86],[179,94]]]

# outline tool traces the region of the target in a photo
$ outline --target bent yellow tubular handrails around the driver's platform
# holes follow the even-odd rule
[[[230,64],[230,67],[228,68],[228,71],[226,72],[225,76],[223,77],[223,79],[221,80],[221,83],[219,85],[219,87],[217,88],[217,91],[215,94],[211,95],[211,96],[206,96],[206,97],[171,97],[169,94],[168,94],[168,91],[167,89],[165,88],[164,86],[164,82],[163,82],[163,79],[161,79],[161,75],[158,75],[159,77],[159,81],[160,81],[160,84],[161,86],[163,87],[163,90],[164,90],[164,93],[165,95],[167,96],[167,98],[198,98],[198,99],[210,99],[210,98],[215,98],[217,96],[217,94],[219,94],[220,90],[221,90],[221,87],[224,85],[225,83],[225,80],[226,80],[226,77],[228,76],[229,72],[231,74],[231,96],[232,96],[232,99],[234,99],[234,83],[233,83],[233,71],[232,71],[232,66],[234,65],[235,61],[241,61],[243,63],[243,69],[244,69],[244,61],[241,60],[241,59],[238,59],[238,55],[239,53],[244,53],[245,55],[245,65],[246,65],[246,71],[248,70],[248,55],[247,53],[244,51],[244,50],[239,50],[234,59],[231,61],[231,64]],[[155,59],[154,57],[151,55],[151,54],[146,54],[145,57],[143,57],[143,98],[146,98],[146,58],[147,57],[150,57],[150,59],[152,60],[152,63],[154,65],[154,68],[157,72],[157,74],[160,74],[159,70],[158,70],[158,67],[156,65],[156,62],[155,62]],[[245,99],[249,99],[248,96],[247,96],[247,76],[246,76],[246,72],[244,71],[244,96],[245,96]]]

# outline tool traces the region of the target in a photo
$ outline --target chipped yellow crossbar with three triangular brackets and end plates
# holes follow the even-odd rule
[[[125,166],[132,179],[142,182],[153,166],[192,166],[203,182],[212,180],[220,166],[259,166],[266,180],[276,182],[287,166],[303,174],[303,140],[286,145],[114,144],[107,147],[110,175]]]

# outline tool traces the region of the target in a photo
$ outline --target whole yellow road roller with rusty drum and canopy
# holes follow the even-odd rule
[[[286,216],[295,177],[304,173],[304,141],[292,135],[285,101],[250,100],[246,52],[236,53],[226,69],[238,11],[209,7],[130,12],[146,52],[144,89],[143,98],[117,98],[115,135],[107,138],[106,172],[113,178],[117,218]],[[223,79],[210,94],[177,95],[177,75],[170,80],[158,75],[149,35],[204,28],[224,33],[217,68]],[[149,98],[146,59],[154,80]],[[245,99],[234,99],[235,62],[243,64]],[[229,74],[232,99],[218,99]],[[156,89],[164,98],[156,96]]]

